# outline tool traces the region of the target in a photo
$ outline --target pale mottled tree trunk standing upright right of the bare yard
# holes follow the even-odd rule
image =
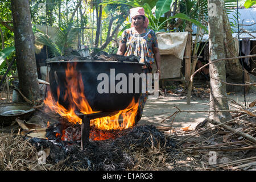
[[[216,7],[216,12],[214,12],[214,14],[210,12],[212,7],[210,6],[212,5],[211,3]],[[210,63],[225,57],[223,7],[224,0],[208,0]],[[217,63],[210,64],[209,67],[210,111],[212,111],[209,113],[209,118],[223,122],[231,118],[230,113],[214,112],[214,110],[229,110],[228,99],[226,97],[226,84],[221,82],[226,81],[225,62],[218,61]]]

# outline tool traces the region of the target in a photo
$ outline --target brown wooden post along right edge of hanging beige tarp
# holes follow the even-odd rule
[[[188,83],[191,76],[191,32],[188,33],[185,56],[188,57],[185,59],[185,81],[186,88],[188,88]]]

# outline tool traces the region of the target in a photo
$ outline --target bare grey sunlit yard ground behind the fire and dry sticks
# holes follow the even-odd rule
[[[241,93],[230,93],[229,98],[229,109],[234,109],[231,101],[236,101],[238,104],[244,105],[244,96]],[[246,94],[246,105],[248,106],[251,102],[256,100],[256,92]],[[180,94],[168,94],[167,96],[159,96],[156,100],[148,100],[144,106],[143,115],[140,125],[150,124],[155,126],[166,126],[179,128],[189,126],[191,129],[203,122],[205,118],[208,117],[208,113],[187,113],[182,112],[176,115],[174,120],[170,115],[174,114],[178,107],[180,110],[189,111],[208,111],[209,110],[209,98],[200,98],[192,96],[191,104],[187,105],[187,97],[180,96]],[[166,119],[164,121],[164,119]]]

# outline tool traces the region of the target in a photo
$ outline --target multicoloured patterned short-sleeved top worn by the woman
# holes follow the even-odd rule
[[[138,56],[141,63],[146,61],[152,68],[151,64],[155,62],[153,47],[158,47],[158,40],[153,30],[146,28],[145,33],[138,34],[134,32],[134,28],[128,28],[123,31],[120,43],[126,44],[125,56]]]

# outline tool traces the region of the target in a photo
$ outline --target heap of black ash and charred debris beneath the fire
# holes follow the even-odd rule
[[[133,152],[147,152],[154,146],[162,147],[166,152],[175,148],[174,140],[167,138],[155,126],[143,125],[119,131],[116,139],[90,141],[84,150],[80,143],[70,144],[66,141],[43,140],[32,138],[30,142],[38,150],[50,148],[47,163],[70,170],[105,170],[120,171],[132,169],[137,158]]]

